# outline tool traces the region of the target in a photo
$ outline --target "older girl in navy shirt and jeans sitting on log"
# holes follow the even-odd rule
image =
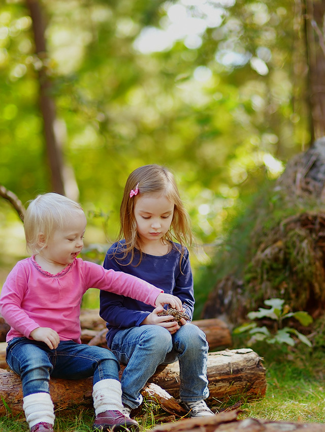
[[[133,171],[120,207],[119,240],[109,248],[104,267],[140,277],[179,297],[192,318],[193,279],[185,246],[192,240],[188,214],[173,174],[158,165]],[[176,241],[174,241],[176,240]],[[121,378],[123,414],[142,403],[141,390],[159,364],[180,366],[180,398],[191,417],[212,416],[209,395],[208,344],[196,325],[129,297],[101,292],[100,315],[107,321],[107,344],[126,364]]]

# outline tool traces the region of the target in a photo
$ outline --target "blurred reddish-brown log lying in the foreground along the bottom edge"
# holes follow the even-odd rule
[[[321,423],[288,423],[255,418],[238,420],[239,413],[235,410],[213,417],[189,418],[156,426],[151,432],[325,432],[325,424]]]

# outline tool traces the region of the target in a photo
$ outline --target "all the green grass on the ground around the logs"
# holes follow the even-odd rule
[[[261,400],[245,401],[240,396],[227,403],[210,403],[221,412],[242,405],[239,418],[267,418],[273,421],[325,423],[325,350],[322,346],[310,349],[303,344],[297,348],[254,346],[254,351],[264,357],[267,392]],[[161,421],[170,419],[170,414],[159,409],[157,404],[145,401],[136,419],[144,430],[149,430]],[[89,432],[93,411],[84,410],[58,412],[55,432]],[[23,415],[0,418],[2,432],[27,432]]]

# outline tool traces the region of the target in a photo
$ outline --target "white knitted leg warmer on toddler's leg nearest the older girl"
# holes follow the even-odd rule
[[[96,382],[92,390],[95,414],[105,411],[122,411],[122,388],[118,380],[106,379]]]

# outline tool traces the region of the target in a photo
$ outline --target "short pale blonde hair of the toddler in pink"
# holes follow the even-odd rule
[[[42,250],[39,235],[46,243],[54,230],[62,228],[67,218],[80,210],[83,211],[80,204],[55,193],[38,195],[30,201],[24,217],[27,250],[38,254]]]

